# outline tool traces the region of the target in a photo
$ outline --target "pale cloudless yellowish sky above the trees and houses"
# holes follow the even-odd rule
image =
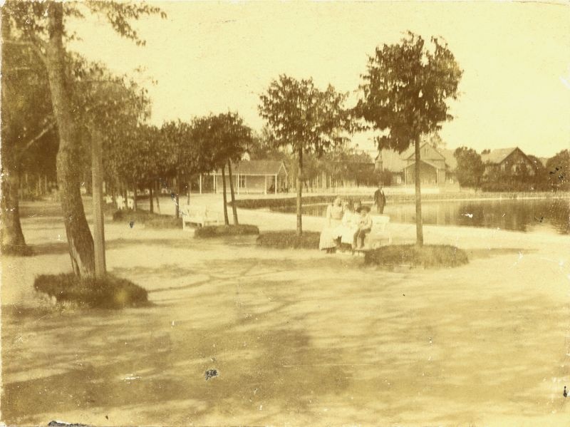
[[[570,148],[570,6],[494,1],[156,1],[167,19],[135,22],[146,46],[104,19],[69,23],[70,48],[144,84],[152,123],[237,111],[261,130],[259,96],[280,74],[357,96],[376,46],[406,31],[445,38],[464,73],[447,148],[551,157]],[[142,72],[135,69],[142,67]],[[373,150],[370,134],[353,145]]]

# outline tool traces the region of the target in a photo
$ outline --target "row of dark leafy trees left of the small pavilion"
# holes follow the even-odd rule
[[[175,215],[179,217],[180,194],[185,191],[185,185],[196,175],[224,168],[228,168],[230,182],[233,182],[232,161],[241,158],[251,140],[252,130],[232,112],[210,114],[190,122],[173,120],[160,128],[147,123],[118,126],[105,135],[105,182],[113,195],[133,190],[135,210],[137,191],[149,190],[151,212],[152,193],[160,190],[167,180],[176,182]],[[233,192],[233,185],[230,191]],[[227,219],[226,212],[224,200]]]

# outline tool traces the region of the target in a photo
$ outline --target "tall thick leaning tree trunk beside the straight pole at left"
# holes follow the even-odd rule
[[[59,132],[57,156],[58,185],[61,192],[63,222],[69,245],[73,272],[80,276],[92,276],[95,270],[93,237],[89,230],[83,201],[81,200],[81,157],[76,125],[71,113],[71,101],[65,75],[65,51],[63,49],[63,4],[48,4],[48,34],[46,43],[46,67],[51,91],[53,113]]]

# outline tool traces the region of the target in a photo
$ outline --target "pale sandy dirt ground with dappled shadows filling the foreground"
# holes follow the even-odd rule
[[[23,212],[36,256],[2,259],[8,425],[568,425],[568,236],[425,227],[426,242],[462,247],[470,264],[386,272],[107,222],[108,270],[153,304],[78,311],[33,291],[37,274],[71,269],[57,205]],[[295,223],[239,213],[261,230]],[[413,241],[415,227],[390,231]]]

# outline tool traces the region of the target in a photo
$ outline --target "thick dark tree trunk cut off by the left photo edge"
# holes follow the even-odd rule
[[[26,255],[31,249],[26,246],[20,224],[19,187],[20,177],[14,164],[14,150],[1,144],[1,188],[0,197],[0,250],[3,254]]]

